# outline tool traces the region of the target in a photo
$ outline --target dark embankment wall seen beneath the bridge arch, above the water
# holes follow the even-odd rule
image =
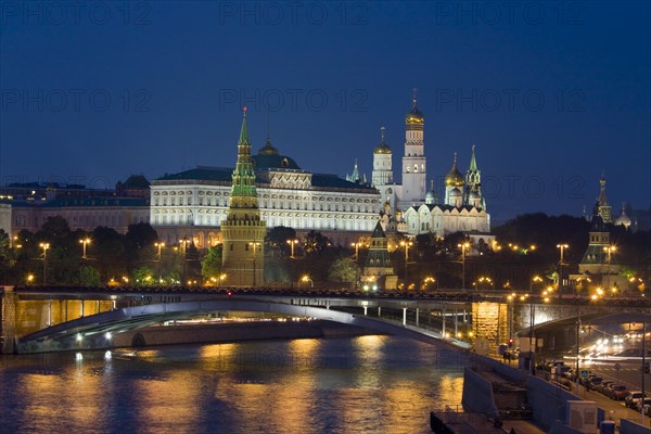
[[[359,327],[324,320],[204,322],[156,326],[112,337],[112,347],[144,347],[178,344],[219,344],[278,339],[346,337],[378,334]]]

